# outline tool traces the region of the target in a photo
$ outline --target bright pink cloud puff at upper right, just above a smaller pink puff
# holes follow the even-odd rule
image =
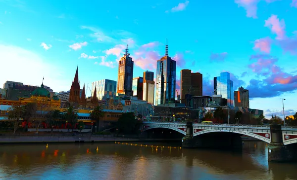
[[[265,20],[264,26],[270,28],[272,33],[277,35],[276,39],[284,39],[286,37],[285,21],[283,19],[280,21],[277,15],[271,15]]]

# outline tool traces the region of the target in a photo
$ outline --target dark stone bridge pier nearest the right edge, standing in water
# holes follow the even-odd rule
[[[294,144],[283,144],[282,126],[273,124],[270,126],[271,143],[268,145],[269,162],[291,162],[297,161],[297,153]]]

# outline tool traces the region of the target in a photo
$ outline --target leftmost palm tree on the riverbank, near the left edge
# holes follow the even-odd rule
[[[11,110],[8,111],[8,120],[11,120],[13,124],[13,134],[15,134],[15,131],[19,127],[24,112],[23,106],[13,106]]]

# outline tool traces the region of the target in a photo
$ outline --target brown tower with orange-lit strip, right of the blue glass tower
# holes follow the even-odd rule
[[[235,107],[249,108],[249,93],[247,89],[240,87],[238,91],[234,91],[234,105]]]

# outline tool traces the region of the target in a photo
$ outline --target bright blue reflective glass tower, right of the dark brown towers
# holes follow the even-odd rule
[[[222,95],[222,99],[227,100],[221,106],[234,107],[233,81],[229,72],[221,72],[221,76],[213,78],[213,89],[215,95]]]

